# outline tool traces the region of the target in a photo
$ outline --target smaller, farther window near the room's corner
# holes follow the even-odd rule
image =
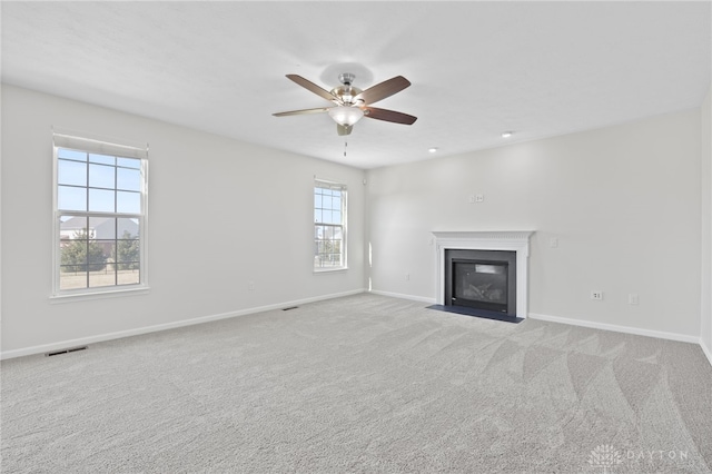
[[[314,269],[346,268],[346,185],[314,185]]]

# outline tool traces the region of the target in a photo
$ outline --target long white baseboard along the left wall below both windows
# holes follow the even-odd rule
[[[330,294],[330,295],[324,295],[324,296],[315,296],[312,298],[304,298],[304,299],[295,299],[291,302],[277,303],[274,305],[258,306],[254,308],[239,309],[236,312],[221,313],[217,315],[201,316],[201,317],[196,317],[191,319],[177,320],[172,323],[157,324],[154,326],[138,327],[135,329],[118,330],[115,333],[107,333],[107,334],[97,334],[95,336],[80,337],[77,339],[69,339],[69,340],[60,340],[57,343],[42,344],[39,346],[23,347],[21,349],[4,350],[0,353],[0,359],[22,357],[22,356],[34,355],[34,354],[44,354],[52,350],[61,350],[63,348],[69,348],[69,347],[86,346],[88,344],[101,343],[103,340],[119,339],[121,337],[129,337],[129,336],[139,336],[141,334],[175,329],[177,327],[192,326],[196,324],[210,323],[212,320],[227,319],[227,318],[237,317],[237,316],[246,316],[255,313],[269,312],[273,309],[281,309],[289,306],[298,306],[298,305],[305,305],[307,303],[315,303],[315,302],[320,302],[325,299],[339,298],[343,296],[358,295],[365,292],[366,292],[365,288],[354,289],[350,292],[344,292],[344,293],[337,293],[337,294]]]

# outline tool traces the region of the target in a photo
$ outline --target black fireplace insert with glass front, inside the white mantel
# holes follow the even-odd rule
[[[446,249],[445,306],[516,316],[516,251]]]

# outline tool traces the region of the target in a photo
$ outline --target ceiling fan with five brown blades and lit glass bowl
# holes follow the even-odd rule
[[[413,125],[417,117],[409,116],[395,110],[379,109],[372,107],[372,103],[390,97],[411,86],[411,82],[403,76],[396,76],[386,81],[360,90],[352,83],[356,76],[350,72],[344,72],[338,76],[340,86],[335,87],[330,91],[320,88],[314,82],[297,75],[287,75],[287,78],[316,93],[324,99],[334,102],[334,107],[322,107],[318,109],[290,110],[287,112],[273,113],[275,117],[299,116],[307,113],[327,112],[336,122],[336,131],[338,135],[349,135],[358,120],[363,117],[376,120],[390,121],[394,124]]]

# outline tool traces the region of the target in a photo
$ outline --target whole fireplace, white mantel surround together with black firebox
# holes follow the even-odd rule
[[[532,230],[434,231],[436,306],[525,318],[532,234]],[[447,280],[459,280],[463,287],[448,286]]]

